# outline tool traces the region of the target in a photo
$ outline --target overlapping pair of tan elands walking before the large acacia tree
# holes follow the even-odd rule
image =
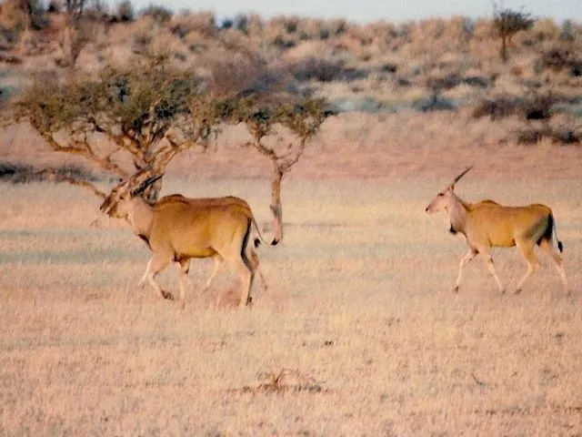
[[[127,219],[135,234],[144,239],[153,252],[139,285],[144,285],[147,280],[162,298],[173,299],[171,293],[159,287],[155,278],[168,264],[178,262],[180,302],[184,308],[190,259],[213,258],[215,269],[206,281],[206,287],[226,261],[242,281],[240,307],[245,307],[251,300],[250,289],[258,269],[256,252],[248,246],[252,230],[255,229],[258,236],[256,245],[259,240],[265,242],[252,210],[245,200],[233,197],[171,195],[150,205],[141,194],[161,177],[147,178],[136,188],[130,188],[130,183],[122,183],[101,205],[101,211],[110,217]],[[277,242],[274,239],[270,244],[276,245]]]

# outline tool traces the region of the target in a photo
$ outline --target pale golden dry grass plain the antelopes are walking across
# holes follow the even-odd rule
[[[250,310],[230,272],[202,293],[208,260],[179,310],[136,287],[147,249],[96,198],[0,184],[0,434],[579,435],[579,179],[457,188],[551,206],[570,297],[543,254],[514,295],[515,249],[493,253],[506,295],[478,258],[454,294],[465,243],[425,214],[441,182],[286,181],[285,239],[259,249],[269,288]],[[176,191],[241,196],[270,219],[264,180],[166,181]]]

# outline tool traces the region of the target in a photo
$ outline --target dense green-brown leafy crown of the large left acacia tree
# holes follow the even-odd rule
[[[96,78],[38,79],[17,102],[16,114],[41,132],[115,120],[125,135],[141,141],[145,131],[150,137],[163,136],[201,92],[201,79],[187,72],[160,66],[108,67]]]

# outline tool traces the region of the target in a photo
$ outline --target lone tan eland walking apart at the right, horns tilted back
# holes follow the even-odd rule
[[[462,178],[467,168],[443,191],[437,194],[426,207],[426,212],[434,213],[445,210],[450,220],[450,231],[453,234],[460,232],[467,239],[469,249],[461,259],[458,268],[455,289],[461,284],[463,266],[481,254],[486,268],[497,282],[497,287],[504,292],[493,259],[491,248],[510,248],[517,246],[527,260],[527,272],[517,283],[517,291],[522,289],[526,279],[539,268],[534,247],[536,244],[543,249],[554,262],[556,269],[567,288],[566,272],[563,261],[554,248],[553,235],[556,234],[556,223],[552,210],[545,205],[534,204],[524,207],[506,207],[493,200],[482,200],[477,203],[468,203],[458,198],[454,192],[455,184]],[[562,251],[562,243],[558,240],[557,247]]]

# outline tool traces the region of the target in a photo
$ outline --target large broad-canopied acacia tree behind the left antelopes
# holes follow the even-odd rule
[[[208,98],[202,79],[185,71],[154,64],[109,67],[95,78],[36,81],[16,102],[15,119],[29,122],[55,151],[126,179],[133,173],[123,166],[123,155],[159,174],[182,150],[204,145],[217,115]],[[109,147],[92,146],[95,133],[105,135]],[[105,198],[87,181],[65,180]],[[156,199],[160,187],[161,179],[147,197]]]

